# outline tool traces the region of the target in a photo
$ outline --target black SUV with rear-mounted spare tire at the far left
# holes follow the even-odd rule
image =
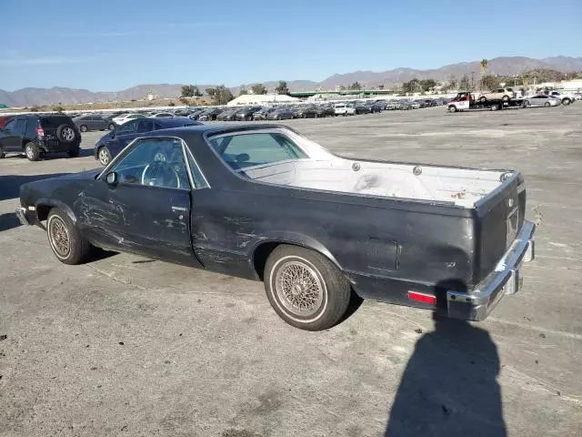
[[[25,152],[31,161],[52,152],[78,157],[80,145],[81,133],[75,123],[61,114],[15,116],[0,130],[0,158],[6,152]]]

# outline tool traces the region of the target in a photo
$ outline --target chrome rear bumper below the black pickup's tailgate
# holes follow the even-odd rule
[[[523,262],[535,257],[536,225],[524,221],[516,239],[497,263],[496,269],[481,281],[475,290],[447,291],[448,316],[464,320],[485,320],[505,295],[516,294],[523,278],[519,269]]]

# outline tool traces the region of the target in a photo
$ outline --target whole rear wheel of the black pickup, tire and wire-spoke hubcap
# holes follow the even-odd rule
[[[304,294],[305,299],[305,279],[301,282],[287,282],[291,290],[285,290],[285,285],[280,282],[277,288],[277,275],[283,277],[292,269],[301,269],[305,273],[302,279],[306,277],[309,281],[307,285],[318,290],[316,298],[307,296],[309,299],[316,299],[310,313],[300,314],[297,311],[301,310],[294,311],[289,308],[293,307],[289,299],[297,298],[296,292]],[[329,259],[314,250],[285,244],[277,246],[266,260],[264,273],[266,297],[271,306],[281,319],[296,328],[326,330],[334,326],[346,313],[351,296],[349,281]]]

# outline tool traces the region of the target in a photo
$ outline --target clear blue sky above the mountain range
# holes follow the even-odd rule
[[[582,0],[1,3],[0,89],[9,91],[319,81],[484,57],[582,56]]]

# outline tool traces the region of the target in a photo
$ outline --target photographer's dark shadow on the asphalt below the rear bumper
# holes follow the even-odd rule
[[[385,436],[505,437],[497,346],[467,321],[433,319],[406,365]]]

